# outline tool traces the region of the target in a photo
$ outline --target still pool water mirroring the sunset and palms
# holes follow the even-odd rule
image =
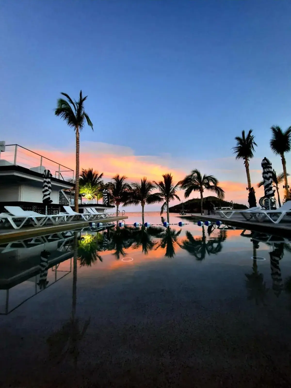
[[[0,244],[0,386],[289,387],[291,242],[128,216]]]

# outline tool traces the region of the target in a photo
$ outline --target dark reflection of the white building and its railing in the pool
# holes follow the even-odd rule
[[[70,261],[64,267],[61,263],[72,257],[72,241],[73,233],[65,231],[0,244],[0,314],[9,314],[71,272]]]

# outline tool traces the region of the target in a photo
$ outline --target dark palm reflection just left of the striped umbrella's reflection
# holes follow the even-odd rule
[[[266,282],[264,282],[264,275],[258,272],[258,263],[253,259],[253,272],[245,274],[246,288],[248,290],[248,300],[255,300],[256,305],[262,303],[265,305],[265,298],[268,292]]]

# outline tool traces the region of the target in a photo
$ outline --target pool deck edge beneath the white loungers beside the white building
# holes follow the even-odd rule
[[[34,237],[39,236],[45,233],[54,233],[60,232],[62,230],[71,230],[78,229],[87,226],[90,222],[102,222],[106,224],[107,222],[125,220],[127,216],[123,217],[110,217],[102,218],[102,220],[92,220],[92,221],[74,221],[74,222],[61,222],[59,225],[45,225],[42,227],[26,227],[21,229],[13,228],[0,228],[0,241],[6,242],[11,240],[16,240],[21,237]]]

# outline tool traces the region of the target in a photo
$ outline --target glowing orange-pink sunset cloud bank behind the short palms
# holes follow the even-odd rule
[[[37,149],[34,151],[61,163],[64,166],[72,168],[73,170],[75,169],[76,162],[74,151],[49,151],[45,149]],[[223,159],[221,163],[223,167]],[[182,165],[184,168],[173,168],[171,165]],[[178,180],[183,179],[185,175],[189,173],[189,170],[186,170],[188,165],[189,170],[193,168],[193,165],[197,165],[199,168],[202,167],[201,172],[211,173],[211,171],[207,171],[209,170],[209,166],[199,166],[199,161],[188,162],[182,161],[182,159],[173,160],[167,156],[163,158],[156,156],[137,156],[133,154],[132,149],[129,147],[106,143],[82,142],[80,145],[80,168],[92,167],[99,172],[103,172],[105,181],[110,180],[116,173],[128,177],[129,182],[139,180],[144,176],[151,180],[158,181],[161,180],[163,173],[171,172],[174,181],[178,182]],[[215,161],[215,170],[218,170],[220,171],[220,174],[225,175],[225,173],[223,173],[223,168],[219,170],[219,160]],[[217,174],[218,178],[220,174]],[[225,191],[225,199],[247,203],[248,193],[246,192],[246,183],[222,180],[219,182],[219,185]],[[255,188],[255,190],[258,198],[263,196],[263,189]],[[183,191],[178,191],[177,194],[181,200],[184,200]],[[210,192],[209,194],[211,195]],[[199,196],[199,193],[193,193],[193,196],[190,198],[197,196]],[[175,203],[178,203],[178,200],[171,202],[171,205]]]

